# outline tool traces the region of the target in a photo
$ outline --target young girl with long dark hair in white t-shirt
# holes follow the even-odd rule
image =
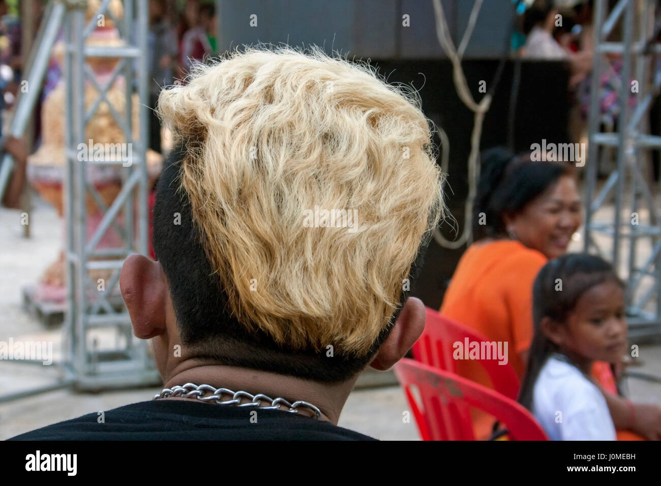
[[[624,285],[592,255],[549,261],[533,286],[535,336],[519,401],[551,440],[615,440],[595,360],[617,363],[627,345]]]

